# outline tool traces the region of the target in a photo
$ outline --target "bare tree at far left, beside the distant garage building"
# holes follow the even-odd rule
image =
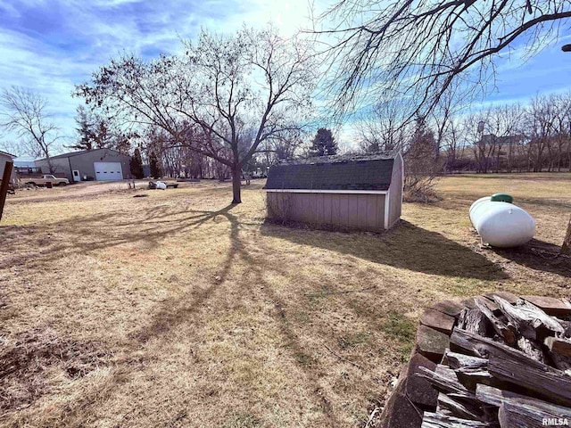
[[[0,127],[21,138],[24,152],[46,158],[54,173],[51,153],[60,136],[51,121],[46,98],[19,86],[4,89],[0,95]]]

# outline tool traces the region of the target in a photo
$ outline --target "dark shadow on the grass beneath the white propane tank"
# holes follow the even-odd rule
[[[492,251],[518,265],[571,278],[571,260],[559,256],[560,247],[532,239],[515,248],[494,248]]]

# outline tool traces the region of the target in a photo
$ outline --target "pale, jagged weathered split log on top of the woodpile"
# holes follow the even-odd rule
[[[553,333],[565,333],[565,329],[557,320],[528,301],[518,300],[517,306],[512,306],[508,300],[501,299],[500,296],[493,296],[493,300],[500,306],[501,312],[509,319],[509,322],[515,325],[517,331],[527,339],[535,341],[538,334],[548,335],[542,332],[542,329]],[[553,333],[550,335],[554,335]]]

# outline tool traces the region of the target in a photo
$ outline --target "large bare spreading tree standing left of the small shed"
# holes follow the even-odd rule
[[[234,37],[203,31],[180,56],[112,61],[77,94],[132,124],[162,128],[173,144],[228,167],[232,202],[240,203],[244,164],[263,142],[300,127],[316,74],[301,39],[285,40],[271,28]],[[189,124],[200,132],[188,134]]]

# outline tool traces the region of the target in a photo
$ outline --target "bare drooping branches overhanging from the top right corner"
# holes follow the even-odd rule
[[[459,78],[484,90],[494,60],[516,40],[525,56],[557,37],[571,17],[567,0],[341,0],[321,22],[329,45],[336,111],[362,95],[408,95],[426,114]]]

